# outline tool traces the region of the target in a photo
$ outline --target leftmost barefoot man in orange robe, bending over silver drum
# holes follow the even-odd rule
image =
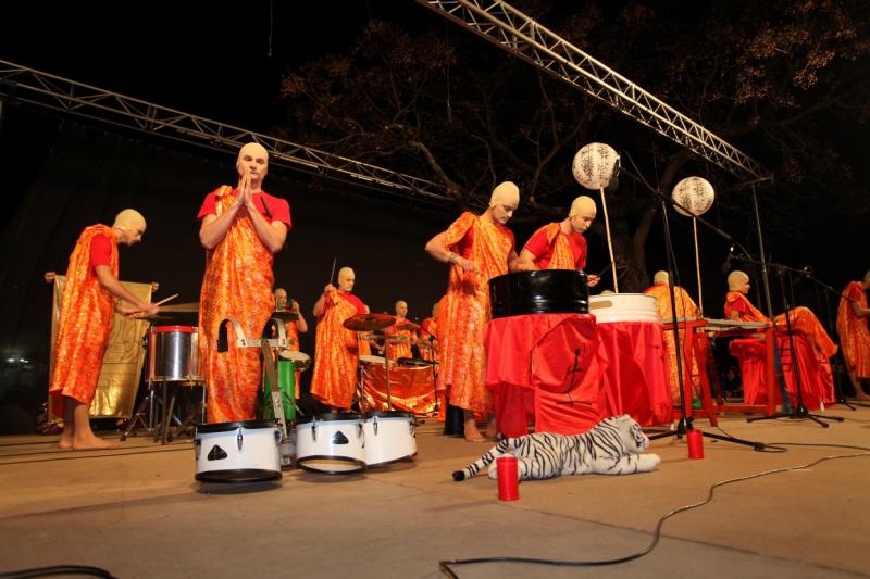
[[[63,413],[62,449],[119,446],[94,435],[89,408],[112,332],[114,312],[133,316],[159,310],[139,301],[117,279],[117,244],[138,243],[145,226],[145,217],[139,212],[124,210],[112,227],[100,224],[86,227],[70,255],[54,342],[54,366],[48,387],[49,394],[55,397],[55,410]],[[113,298],[128,305],[121,305]]]

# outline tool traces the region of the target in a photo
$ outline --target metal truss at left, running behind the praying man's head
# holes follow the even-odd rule
[[[0,60],[0,100],[50,109],[236,154],[246,142],[262,144],[272,165],[431,203],[452,202],[444,186],[253,133]]]

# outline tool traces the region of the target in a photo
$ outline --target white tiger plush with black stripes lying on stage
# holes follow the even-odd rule
[[[507,438],[462,470],[453,480],[465,480],[489,466],[489,478],[498,478],[496,458],[502,454],[517,457],[520,480],[546,479],[560,475],[629,475],[655,470],[658,454],[642,454],[649,446],[641,425],[627,414],[611,416],[582,435],[551,432]]]

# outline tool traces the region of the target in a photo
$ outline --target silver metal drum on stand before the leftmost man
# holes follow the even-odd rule
[[[146,379],[152,382],[201,381],[197,338],[194,326],[151,326]]]

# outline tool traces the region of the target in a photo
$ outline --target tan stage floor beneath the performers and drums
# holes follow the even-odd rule
[[[870,446],[870,408],[837,407],[846,421],[748,424],[729,433],[760,442]],[[696,426],[719,432],[707,420]],[[658,471],[574,476],[520,484],[499,502],[485,476],[450,474],[490,444],[444,437],[428,419],[412,463],[353,476],[286,470],[277,483],[200,484],[192,443],[147,437],[122,450],[72,452],[57,437],[0,439],[0,571],[89,565],[129,578],[438,577],[438,561],[476,557],[602,559],[647,547],[659,519],[705,500],[711,484],[866,451],[790,446],[760,453],[705,439],[652,441]],[[870,453],[867,453],[870,454]],[[867,576],[870,455],[728,484],[712,503],[664,523],[658,546],[605,567],[494,563],[460,577]]]

